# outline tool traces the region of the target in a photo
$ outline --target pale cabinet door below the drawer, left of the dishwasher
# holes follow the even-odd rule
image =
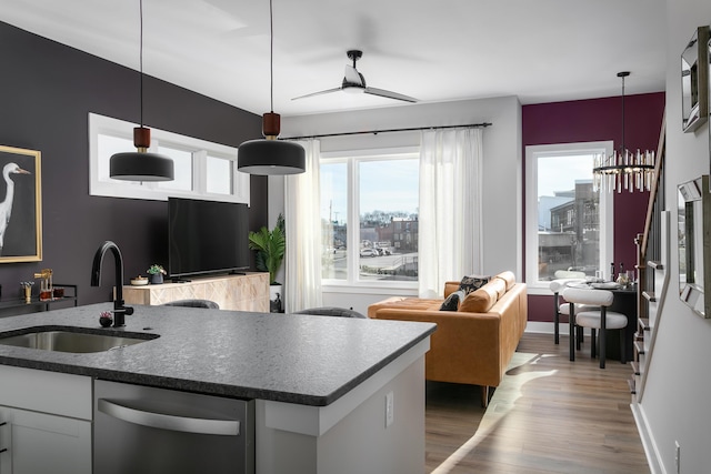
[[[91,473],[91,422],[0,406],[1,474]]]

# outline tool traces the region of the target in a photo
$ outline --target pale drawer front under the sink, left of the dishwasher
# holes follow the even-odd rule
[[[91,377],[0,365],[0,405],[91,420]]]

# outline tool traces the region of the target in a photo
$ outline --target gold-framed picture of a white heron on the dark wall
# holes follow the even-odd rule
[[[0,263],[42,260],[41,152],[0,145]]]

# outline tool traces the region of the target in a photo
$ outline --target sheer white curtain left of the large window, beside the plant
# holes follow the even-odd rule
[[[307,171],[284,179],[284,311],[322,305],[321,295],[321,202],[319,140],[300,141],[307,151]]]

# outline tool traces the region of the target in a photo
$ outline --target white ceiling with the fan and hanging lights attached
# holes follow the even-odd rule
[[[343,92],[360,49],[368,85],[422,102],[522,103],[664,90],[664,0],[273,0],[274,111],[405,104]],[[0,0],[0,21],[139,69],[139,0]],[[250,112],[270,108],[268,0],[143,0],[143,71]]]

